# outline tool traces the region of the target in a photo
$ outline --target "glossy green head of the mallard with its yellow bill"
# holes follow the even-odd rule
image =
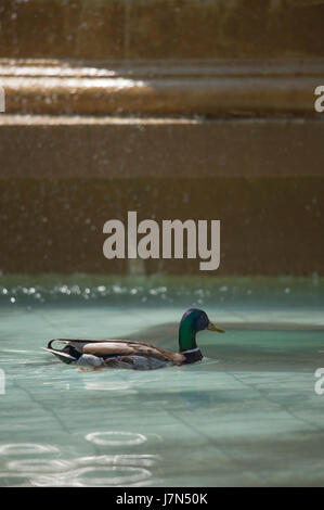
[[[203,330],[224,333],[223,329],[210,322],[204,310],[199,310],[198,308],[190,308],[186,310],[182,316],[179,327],[180,353],[197,348],[196,333]]]

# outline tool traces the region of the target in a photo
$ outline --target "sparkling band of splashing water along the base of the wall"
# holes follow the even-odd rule
[[[125,276],[109,275],[0,275],[0,304],[17,305],[72,304],[98,306],[130,305],[167,306],[186,303],[190,306],[235,304],[264,306],[281,301],[285,306],[323,304],[324,279],[314,272],[309,278],[198,276]]]

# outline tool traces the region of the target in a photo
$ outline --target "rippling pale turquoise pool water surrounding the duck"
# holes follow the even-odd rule
[[[0,486],[324,484],[323,282],[312,279],[0,280]],[[204,331],[192,366],[81,371],[53,337],[129,337],[174,350],[182,313]]]

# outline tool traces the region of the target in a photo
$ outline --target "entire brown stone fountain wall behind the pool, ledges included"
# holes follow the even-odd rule
[[[217,273],[324,272],[324,0],[3,3],[2,271],[128,272],[138,211],[221,219]]]

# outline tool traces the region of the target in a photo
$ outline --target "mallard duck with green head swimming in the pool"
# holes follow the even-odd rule
[[[179,327],[179,353],[170,353],[154,345],[130,340],[51,340],[46,350],[61,361],[92,368],[128,368],[152,370],[168,365],[194,364],[203,359],[196,344],[196,333],[209,330],[224,333],[210,322],[207,314],[191,308],[183,314]],[[53,342],[65,344],[62,349],[52,347]]]

